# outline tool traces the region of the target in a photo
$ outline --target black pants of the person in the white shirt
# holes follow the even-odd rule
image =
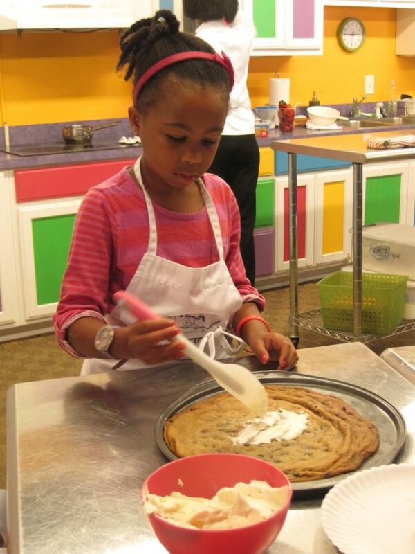
[[[241,255],[246,275],[255,283],[255,189],[259,148],[254,134],[222,135],[208,172],[222,177],[232,188],[241,214]]]

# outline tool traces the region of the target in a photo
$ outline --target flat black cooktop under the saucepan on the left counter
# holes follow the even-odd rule
[[[15,156],[44,156],[45,154],[64,154],[65,152],[94,152],[95,150],[113,150],[114,148],[135,148],[138,144],[120,144],[120,143],[100,143],[91,144],[66,144],[66,143],[46,143],[46,144],[15,144],[10,146],[0,146],[0,152],[13,154]]]

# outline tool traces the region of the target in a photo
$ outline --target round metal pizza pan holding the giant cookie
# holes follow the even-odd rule
[[[338,381],[337,379],[311,377],[310,375],[302,375],[300,373],[291,373],[288,375],[281,375],[279,372],[254,373],[264,385],[301,386],[310,388],[318,393],[338,396],[356,409],[362,417],[374,423],[379,432],[379,448],[370,458],[362,463],[356,472],[367,470],[369,467],[392,463],[405,443],[405,421],[398,409],[384,398],[368,391],[366,388]],[[223,388],[221,388],[216,381],[205,381],[190,388],[187,393],[167,406],[167,409],[161,413],[156,424],[156,444],[160,452],[162,452],[167,459],[176,460],[177,456],[165,443],[163,437],[165,422],[173,415],[176,415],[176,413],[186,409],[192,404],[220,393],[223,393]],[[293,483],[295,498],[323,494],[336,483],[356,472],[340,474],[327,479],[318,479],[316,481]]]

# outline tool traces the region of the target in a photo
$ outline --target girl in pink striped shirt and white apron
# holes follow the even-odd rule
[[[163,364],[183,357],[178,332],[217,358],[234,353],[226,328],[265,364],[297,361],[291,341],[270,332],[264,298],[246,278],[239,213],[229,186],[205,173],[219,143],[232,64],[178,31],[160,10],[121,37],[118,69],[133,78],[129,119],[142,157],[93,187],[77,215],[53,321],[59,343],[84,357],[82,375]],[[139,296],[158,321],[131,323],[113,302]]]

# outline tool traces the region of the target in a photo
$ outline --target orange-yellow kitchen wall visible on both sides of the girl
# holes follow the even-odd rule
[[[338,23],[356,15],[367,38],[347,53],[335,37]],[[324,55],[252,58],[248,87],[252,105],[268,102],[268,80],[278,71],[291,78],[291,101],[308,103],[313,90],[323,103],[351,102],[375,75],[375,94],[386,100],[389,81],[415,96],[415,57],[395,55],[396,10],[335,8],[324,11]],[[127,116],[131,85],[116,73],[118,33],[0,34],[0,124],[29,125]]]

